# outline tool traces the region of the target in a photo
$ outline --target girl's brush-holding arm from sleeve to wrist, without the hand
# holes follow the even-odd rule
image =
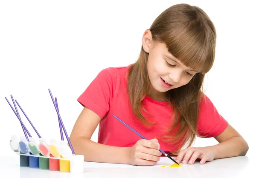
[[[84,161],[128,164],[127,147],[98,144],[90,140],[101,118],[87,107],[79,115],[70,135],[76,155],[84,155]]]

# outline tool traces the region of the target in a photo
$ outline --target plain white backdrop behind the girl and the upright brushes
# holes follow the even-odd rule
[[[215,24],[215,63],[206,76],[205,93],[248,142],[247,156],[253,156],[256,15],[252,3],[244,0],[0,1],[0,155],[14,155],[11,135],[23,135],[4,97],[11,102],[13,95],[49,141],[60,138],[51,89],[70,135],[83,109],[76,99],[102,69],[134,63],[143,32],[177,3],[199,6]],[[20,115],[36,138],[21,111]],[[98,129],[93,141],[97,133]],[[214,138],[198,138],[194,146],[217,143]]]

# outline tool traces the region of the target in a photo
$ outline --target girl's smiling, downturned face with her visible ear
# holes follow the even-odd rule
[[[180,60],[172,56],[164,43],[154,43],[147,39],[145,33],[143,35],[143,49],[148,51],[147,67],[151,82],[149,92],[158,93],[159,95],[159,92],[167,92],[170,89],[189,83],[197,72],[183,65]],[[150,31],[148,34],[151,34]]]

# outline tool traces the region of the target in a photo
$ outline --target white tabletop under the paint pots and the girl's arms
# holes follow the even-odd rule
[[[19,164],[19,155],[0,156],[0,178],[256,178],[254,160],[246,156],[182,167],[105,167],[104,164],[92,167],[84,162],[82,174],[32,169]]]

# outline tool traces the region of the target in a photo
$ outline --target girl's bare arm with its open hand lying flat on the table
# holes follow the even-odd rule
[[[230,125],[215,139],[219,144],[203,148],[189,147],[183,149],[175,158],[179,163],[194,164],[197,158],[201,159],[200,164],[213,159],[228,158],[234,156],[245,156],[249,146],[242,136]]]

